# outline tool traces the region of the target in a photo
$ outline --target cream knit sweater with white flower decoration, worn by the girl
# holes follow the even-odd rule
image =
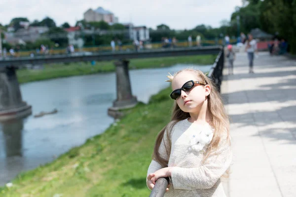
[[[159,147],[162,158],[168,158],[165,146],[169,146],[167,131]],[[213,132],[208,125],[181,120],[172,128],[172,147],[168,166],[172,170],[171,187],[165,197],[226,197],[221,176],[228,169],[232,154],[226,135],[222,136],[218,149],[202,163],[202,151],[192,149],[192,139],[201,132]],[[204,147],[204,150],[207,146]],[[161,169],[161,165],[152,160],[147,175]]]

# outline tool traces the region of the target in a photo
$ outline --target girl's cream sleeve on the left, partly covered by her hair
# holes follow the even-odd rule
[[[169,159],[168,152],[166,151],[166,147],[169,148],[169,139],[168,138],[169,138],[169,136],[168,136],[167,130],[165,130],[162,141],[161,141],[159,149],[158,149],[158,153],[160,154],[160,157],[164,158],[164,159]],[[150,162],[150,165],[148,167],[147,176],[148,176],[148,174],[154,173],[161,168],[162,168],[162,166],[160,165],[160,163],[158,163],[157,161],[152,159],[152,161]],[[147,183],[147,179],[146,179],[146,183]]]

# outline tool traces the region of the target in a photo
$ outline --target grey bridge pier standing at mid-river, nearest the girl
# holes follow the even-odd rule
[[[113,118],[120,118],[122,109],[132,108],[137,105],[137,97],[132,95],[131,83],[128,72],[128,60],[114,62],[116,67],[116,92],[117,99],[113,106],[108,109],[108,115]]]

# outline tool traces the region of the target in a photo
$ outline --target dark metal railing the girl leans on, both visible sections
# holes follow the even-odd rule
[[[208,77],[214,81],[219,92],[222,83],[222,71],[224,66],[224,51],[223,49],[219,52],[213,66],[208,73]],[[152,189],[149,197],[163,197],[168,187],[169,179],[168,178],[159,178],[157,179],[154,188]]]

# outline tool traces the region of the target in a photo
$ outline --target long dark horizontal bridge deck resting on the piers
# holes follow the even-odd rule
[[[19,67],[26,64],[47,64],[61,62],[84,62],[84,61],[111,61],[122,59],[151,58],[151,57],[170,57],[185,55],[218,55],[222,46],[202,46],[202,47],[177,47],[159,48],[141,51],[113,51],[98,52],[91,55],[44,55],[37,57],[14,57],[0,60],[0,68]]]

